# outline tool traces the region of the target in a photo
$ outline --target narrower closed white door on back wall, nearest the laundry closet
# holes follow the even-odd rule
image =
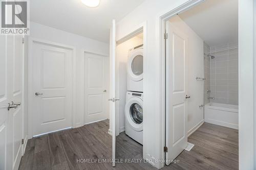
[[[84,123],[108,118],[109,57],[84,53],[85,100]]]

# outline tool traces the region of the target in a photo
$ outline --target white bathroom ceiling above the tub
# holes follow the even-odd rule
[[[206,0],[179,16],[208,45],[238,41],[238,0]]]

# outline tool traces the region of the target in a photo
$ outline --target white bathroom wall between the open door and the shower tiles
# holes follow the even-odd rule
[[[204,121],[204,82],[197,81],[196,77],[204,77],[204,41],[179,17],[169,20],[172,26],[178,28],[188,37],[188,135],[193,133]],[[172,27],[171,26],[171,27]]]

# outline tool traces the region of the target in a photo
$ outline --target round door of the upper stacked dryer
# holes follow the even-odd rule
[[[127,61],[127,72],[133,81],[143,79],[143,48],[131,52]]]

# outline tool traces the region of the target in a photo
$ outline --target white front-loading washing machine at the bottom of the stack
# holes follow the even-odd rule
[[[143,93],[126,93],[125,133],[143,144]]]

